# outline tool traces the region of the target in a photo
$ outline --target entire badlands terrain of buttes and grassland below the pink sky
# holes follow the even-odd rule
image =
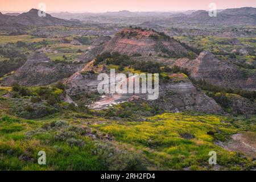
[[[0,13],[0,169],[255,170],[255,16]],[[111,69],[159,97],[98,93]]]

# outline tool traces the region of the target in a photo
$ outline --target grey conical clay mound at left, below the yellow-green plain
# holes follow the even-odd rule
[[[10,86],[13,82],[24,86],[48,85],[71,76],[82,67],[77,64],[55,64],[43,53],[36,52],[13,75],[4,78],[1,85]]]

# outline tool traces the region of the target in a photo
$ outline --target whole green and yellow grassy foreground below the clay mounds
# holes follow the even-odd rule
[[[0,88],[0,169],[213,170],[208,164],[210,151],[217,152],[218,169],[256,166],[250,156],[226,151],[217,144],[241,131],[255,134],[254,118],[166,113],[145,103],[123,103],[102,111],[76,109],[57,100],[63,93],[60,88],[18,87],[14,88],[15,98],[3,97],[14,92],[12,88]],[[46,102],[49,96],[57,102]],[[16,100],[27,105],[36,102],[46,110],[52,106],[60,109],[24,119],[15,112],[19,107]],[[24,109],[34,112],[26,105]],[[39,151],[46,151],[46,165],[38,164]]]

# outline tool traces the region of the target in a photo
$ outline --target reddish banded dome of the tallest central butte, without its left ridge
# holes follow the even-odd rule
[[[114,38],[106,43],[104,51],[119,52],[129,56],[134,53],[148,56],[163,52],[168,52],[176,57],[187,55],[187,49],[176,42],[176,40],[152,30],[135,28],[123,28]]]

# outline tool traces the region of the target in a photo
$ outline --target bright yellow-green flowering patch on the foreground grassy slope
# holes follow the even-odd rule
[[[146,122],[118,122],[97,126],[121,143],[142,150],[160,169],[213,169],[208,152],[217,152],[218,169],[242,169],[251,166],[249,158],[225,151],[215,144],[240,131],[230,118],[216,115],[164,113]]]

